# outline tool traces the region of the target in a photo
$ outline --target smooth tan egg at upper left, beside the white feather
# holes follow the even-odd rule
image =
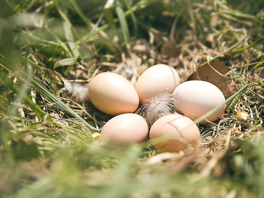
[[[133,113],[139,105],[133,85],[113,72],[102,72],[93,77],[89,82],[88,95],[97,109],[114,116]]]

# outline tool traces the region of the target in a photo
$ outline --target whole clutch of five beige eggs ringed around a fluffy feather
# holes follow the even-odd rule
[[[176,108],[186,116],[171,114],[155,121],[149,131],[154,148],[178,152],[197,145],[200,132],[193,120],[222,104],[224,95],[209,82],[180,84],[178,72],[164,64],[145,70],[138,77],[135,88],[127,79],[112,72],[102,72],[91,79],[88,87],[90,101],[100,111],[115,116],[103,126],[100,139],[121,145],[144,142],[148,136],[148,123],[133,112],[145,99],[165,92],[174,95]],[[216,121],[224,111],[225,105],[222,105],[207,119]]]

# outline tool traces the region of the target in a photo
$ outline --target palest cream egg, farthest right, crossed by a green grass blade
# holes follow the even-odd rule
[[[181,114],[192,120],[204,115],[214,107],[225,101],[221,90],[210,82],[202,80],[191,80],[181,83],[173,92]],[[216,121],[224,114],[226,105],[221,106],[210,116],[206,117],[209,121]],[[192,116],[193,115],[193,116]],[[207,123],[203,120],[201,124]]]

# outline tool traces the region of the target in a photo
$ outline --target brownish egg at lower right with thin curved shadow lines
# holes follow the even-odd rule
[[[153,123],[149,138],[155,149],[161,149],[163,152],[179,152],[190,145],[197,145],[200,131],[188,117],[172,114],[163,116]]]

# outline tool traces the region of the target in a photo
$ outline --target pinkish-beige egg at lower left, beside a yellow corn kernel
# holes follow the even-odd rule
[[[144,142],[148,137],[148,124],[138,114],[120,114],[102,128],[100,139],[121,145]]]

